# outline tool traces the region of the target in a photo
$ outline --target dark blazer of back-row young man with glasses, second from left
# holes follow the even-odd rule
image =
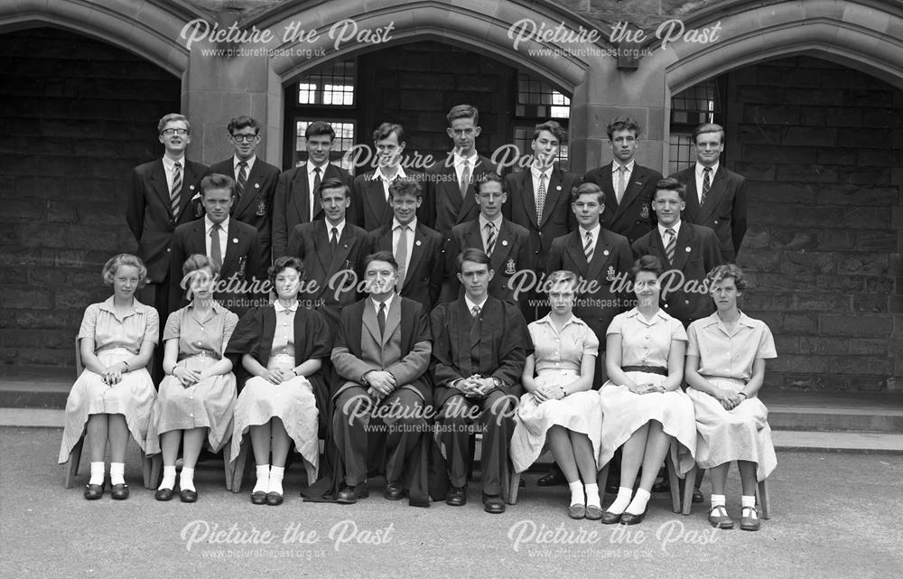
[[[220,173],[237,181],[233,157],[209,166],[207,174]],[[279,180],[279,167],[265,163],[260,157],[254,160],[254,166],[247,173],[245,192],[233,206],[230,213],[232,219],[247,223],[257,229],[260,234],[260,249],[263,252],[263,263],[268,265],[270,247],[273,246],[273,198],[276,182]]]

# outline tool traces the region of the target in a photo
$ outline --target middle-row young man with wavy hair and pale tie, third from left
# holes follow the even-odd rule
[[[442,289],[442,237],[417,219],[423,189],[413,179],[389,185],[392,223],[368,233],[367,252],[388,251],[398,263],[399,294],[420,302],[429,312]]]

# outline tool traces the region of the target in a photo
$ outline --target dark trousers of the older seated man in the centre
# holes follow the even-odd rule
[[[374,409],[386,417],[371,416]],[[402,481],[426,432],[423,409],[423,398],[409,388],[397,388],[376,408],[365,388],[343,391],[332,414],[332,435],[345,463],[345,483],[353,487],[367,480],[368,462],[385,465],[387,482]]]

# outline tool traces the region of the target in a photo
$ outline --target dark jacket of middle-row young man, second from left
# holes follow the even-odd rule
[[[292,230],[286,255],[300,257],[304,262],[304,284],[308,290],[298,297],[333,326],[339,323],[342,308],[358,301],[358,266],[366,246],[367,232],[347,220],[331,258],[325,220],[302,223]]]

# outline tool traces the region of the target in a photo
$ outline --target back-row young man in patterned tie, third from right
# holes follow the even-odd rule
[[[505,177],[508,201],[502,206],[502,213],[529,232],[532,257],[529,268],[534,272],[545,269],[554,238],[577,228],[571,210],[571,190],[580,183],[580,177],[554,165],[558,150],[566,139],[564,129],[555,121],[536,125],[530,170],[509,173]],[[521,311],[528,322],[548,313],[548,307],[540,307],[537,311],[529,303],[530,299],[538,297],[535,291],[527,295],[528,299],[521,301]]]

